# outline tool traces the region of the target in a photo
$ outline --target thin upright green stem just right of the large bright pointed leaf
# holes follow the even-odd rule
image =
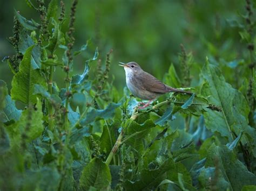
[[[53,77],[53,66],[50,66],[50,74],[48,80],[48,91],[52,95],[52,77]],[[50,101],[48,101],[48,120],[49,120],[49,129],[53,130],[54,122],[53,122],[53,107]]]

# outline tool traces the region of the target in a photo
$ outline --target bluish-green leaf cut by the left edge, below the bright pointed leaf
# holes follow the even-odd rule
[[[15,106],[15,102],[11,100],[11,96],[7,95],[5,97],[5,107],[0,110],[0,121],[5,123],[11,121],[18,121],[21,117],[21,110],[18,110]]]

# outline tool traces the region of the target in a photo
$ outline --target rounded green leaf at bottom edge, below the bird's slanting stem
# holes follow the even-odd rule
[[[90,186],[96,189],[106,190],[111,183],[109,166],[102,160],[94,158],[87,164],[80,177],[80,189],[89,190]]]

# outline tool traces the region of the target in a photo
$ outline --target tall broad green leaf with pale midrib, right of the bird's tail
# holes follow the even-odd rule
[[[201,77],[204,80],[201,94],[210,96],[211,103],[219,105],[223,111],[215,112],[208,109],[205,113],[206,127],[212,132],[233,140],[232,126],[239,125],[238,117],[232,115],[232,108],[239,110],[239,115],[248,116],[249,108],[244,96],[228,84],[220,70],[208,62],[203,67]],[[245,127],[246,128],[246,127]],[[240,132],[237,131],[239,134]]]

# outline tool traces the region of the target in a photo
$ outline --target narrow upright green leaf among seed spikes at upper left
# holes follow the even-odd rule
[[[59,47],[59,45],[63,45],[65,43],[65,39],[63,33],[60,30],[59,23],[57,23],[56,20],[53,18],[51,20],[51,23],[54,26],[54,30],[52,33],[52,37],[49,39],[49,44],[46,46],[46,48],[53,55],[53,53],[56,51],[56,48]]]

